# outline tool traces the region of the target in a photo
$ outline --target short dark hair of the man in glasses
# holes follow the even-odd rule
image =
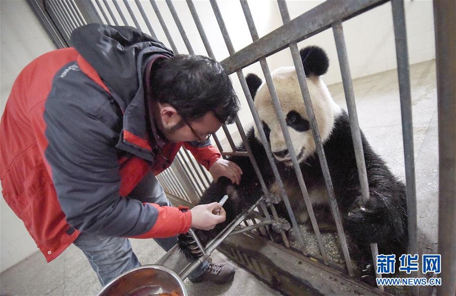
[[[220,122],[234,122],[239,100],[217,61],[177,55],[154,62],[150,74],[153,98],[173,106],[184,119],[195,120],[212,111]]]

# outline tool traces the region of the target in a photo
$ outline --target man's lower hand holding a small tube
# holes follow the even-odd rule
[[[220,209],[220,212],[214,214],[217,209]],[[192,212],[192,228],[196,229],[211,230],[226,219],[226,212],[218,202],[199,204],[193,207],[190,212]]]

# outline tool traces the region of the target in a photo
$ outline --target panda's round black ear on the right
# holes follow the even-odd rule
[[[316,45],[307,46],[299,51],[306,76],[320,76],[328,71],[329,59],[326,52]]]

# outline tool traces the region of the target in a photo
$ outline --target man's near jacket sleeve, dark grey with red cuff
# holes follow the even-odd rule
[[[80,101],[50,97],[44,111],[44,154],[66,221],[82,232],[105,236],[151,238],[187,232],[190,211],[120,196],[115,148],[120,131],[112,128],[118,117],[96,116],[93,106]]]

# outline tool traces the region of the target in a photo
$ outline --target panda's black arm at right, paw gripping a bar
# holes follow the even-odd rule
[[[405,186],[391,173],[385,161],[373,151],[363,134],[361,139],[369,200],[361,200],[358,173],[352,172],[347,180],[352,186],[345,192],[353,195],[359,193],[355,195],[351,206],[345,210],[347,229],[361,241],[377,242],[379,250],[383,252],[404,252],[407,243]],[[348,201],[353,196],[346,195],[343,198]]]

